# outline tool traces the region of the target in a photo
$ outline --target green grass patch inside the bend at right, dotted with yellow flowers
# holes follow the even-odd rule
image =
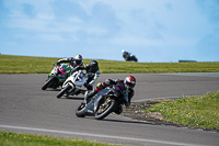
[[[219,130],[219,92],[160,102],[146,112],[160,112],[175,123]]]

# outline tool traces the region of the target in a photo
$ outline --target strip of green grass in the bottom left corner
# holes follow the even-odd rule
[[[92,141],[0,132],[0,146],[113,146]]]

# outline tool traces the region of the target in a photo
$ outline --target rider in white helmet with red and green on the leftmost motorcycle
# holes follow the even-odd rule
[[[76,57],[69,57],[69,58],[64,58],[64,59],[59,59],[57,63],[55,63],[55,66],[60,65],[61,63],[69,63],[69,66],[71,69],[76,68],[77,66],[82,66],[83,65],[83,60],[82,60],[82,56],[76,55]]]

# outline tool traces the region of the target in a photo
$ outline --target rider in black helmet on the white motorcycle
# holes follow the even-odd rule
[[[83,69],[85,69],[87,74],[88,74],[88,80],[87,80],[87,83],[84,83],[84,87],[90,92],[91,90],[93,90],[93,85],[95,83],[95,81],[100,77],[99,63],[96,60],[92,60],[90,63],[90,65],[77,66],[72,70],[72,72],[74,72],[77,70],[83,70]]]

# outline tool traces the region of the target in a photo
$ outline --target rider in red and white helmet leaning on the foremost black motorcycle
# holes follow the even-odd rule
[[[113,85],[117,85],[118,82],[123,82],[125,85],[125,88],[127,89],[126,93],[123,94],[124,96],[123,98],[124,98],[125,105],[129,106],[130,105],[130,101],[131,101],[131,99],[132,99],[132,97],[135,94],[134,87],[136,86],[136,78],[134,76],[127,76],[124,80],[107,79],[107,80],[105,80],[105,82],[97,83],[97,86],[95,87],[95,89],[92,92],[85,93],[84,102],[88,103],[91,100],[91,98],[93,96],[95,96],[99,91],[103,90],[106,87],[112,87]],[[122,112],[123,112],[123,106],[122,105],[119,105],[114,111],[114,113],[116,113],[116,114],[120,114]]]

